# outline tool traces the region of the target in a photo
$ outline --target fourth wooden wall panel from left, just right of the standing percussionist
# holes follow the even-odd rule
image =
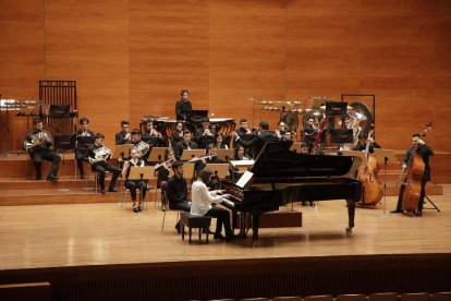
[[[209,109],[215,116],[243,117],[252,125],[252,97],[285,97],[284,1],[210,2]],[[276,127],[279,112],[255,110]]]

